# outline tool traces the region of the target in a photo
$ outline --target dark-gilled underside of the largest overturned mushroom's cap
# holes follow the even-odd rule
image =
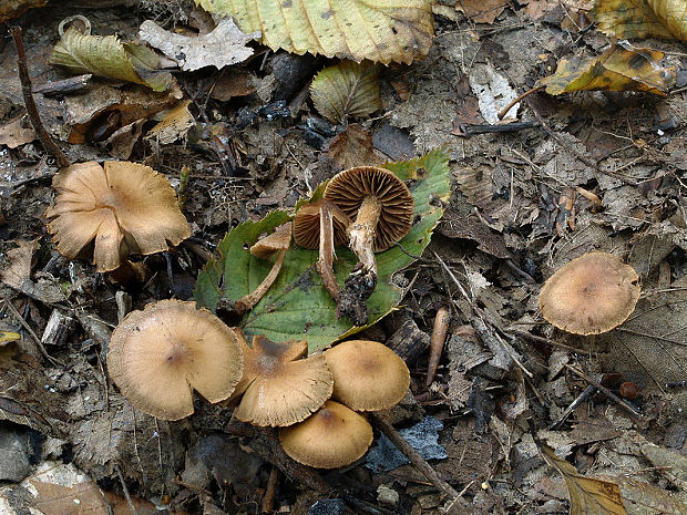
[[[414,200],[406,184],[388,169],[358,166],[335,175],[325,189],[325,198],[339,206],[351,220],[369,196],[381,203],[373,248],[379,253],[400,240],[412,227]]]

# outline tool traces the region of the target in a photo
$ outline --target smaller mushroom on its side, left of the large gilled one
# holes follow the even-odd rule
[[[341,288],[334,276],[334,247],[347,241],[346,229],[349,225],[350,218],[326,198],[306,204],[298,209],[294,218],[296,243],[306,248],[319,247],[317,269],[325,288],[337,303],[337,316],[340,315]]]

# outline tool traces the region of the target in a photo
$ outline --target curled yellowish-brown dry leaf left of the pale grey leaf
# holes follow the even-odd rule
[[[122,43],[116,35],[84,34],[69,29],[55,44],[50,63],[73,73],[93,73],[165,91],[172,83],[170,72],[160,70],[160,58],[151,49]]]

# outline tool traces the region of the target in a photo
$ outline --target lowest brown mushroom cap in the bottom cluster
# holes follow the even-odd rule
[[[304,422],[279,431],[286,454],[304,465],[337,468],[361,457],[372,443],[372,426],[355,411],[327,401]]]

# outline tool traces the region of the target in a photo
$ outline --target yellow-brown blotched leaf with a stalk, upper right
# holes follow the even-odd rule
[[[674,66],[664,68],[658,50],[614,44],[598,58],[564,59],[556,72],[540,80],[546,93],[560,95],[573,91],[646,91],[665,95],[675,83]]]

